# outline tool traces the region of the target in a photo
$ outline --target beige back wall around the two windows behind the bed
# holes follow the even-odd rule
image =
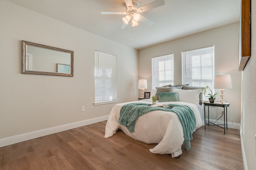
[[[241,72],[238,72],[238,34],[239,22],[224,25],[201,33],[193,34],[173,41],[161,43],[139,50],[139,79],[147,79],[148,89],[152,87],[151,58],[164,54],[174,54],[174,85],[182,84],[182,51],[214,45],[215,75],[230,74],[233,89],[225,89],[224,99],[231,103],[228,110],[232,119],[240,123]],[[219,90],[216,100],[219,101]],[[139,95],[141,90],[139,90]],[[211,119],[217,119],[221,109],[210,111]],[[228,121],[231,121],[228,116]]]

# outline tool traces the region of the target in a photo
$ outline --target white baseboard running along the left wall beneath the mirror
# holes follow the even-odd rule
[[[46,136],[46,135],[50,135],[50,134],[55,134],[58,132],[62,132],[65,130],[69,130],[72,128],[78,128],[78,127],[82,127],[85,125],[90,125],[93,123],[97,123],[100,121],[105,121],[108,120],[108,116],[101,116],[98,118],[92,118],[92,119],[87,119],[87,120],[83,120],[83,121],[78,121],[78,122],[74,122],[74,123],[69,123],[66,125],[60,125],[60,126],[56,126],[56,127],[51,127],[51,128],[46,128],[46,129],[42,129],[42,130],[36,130],[33,132],[28,132],[25,134],[20,134],[20,135],[15,135],[15,136],[11,136],[11,137],[6,137],[6,138],[2,138],[0,139],[0,147],[3,146],[7,146],[7,145],[12,145],[15,143],[19,143],[19,142],[23,142],[23,141],[27,141],[30,139],[35,139],[37,137],[42,137],[42,136]]]

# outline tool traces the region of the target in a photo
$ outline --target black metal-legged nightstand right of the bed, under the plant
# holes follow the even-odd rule
[[[224,129],[224,134],[226,134],[226,128],[228,129],[228,107],[229,107],[230,103],[221,103],[221,102],[214,102],[214,103],[210,103],[209,101],[204,101],[204,130],[206,130],[206,125],[210,126],[210,125],[216,125],[215,123],[212,123],[209,121],[209,106],[213,106],[213,107],[223,107],[224,110],[224,128],[221,127],[223,125],[216,125],[220,128]],[[205,122],[205,106],[208,106],[208,123]],[[226,119],[225,119],[225,108],[226,108]]]

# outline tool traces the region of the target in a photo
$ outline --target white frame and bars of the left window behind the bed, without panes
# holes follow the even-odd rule
[[[157,79],[157,76],[158,76],[158,81],[160,81],[159,80],[159,72],[160,71],[156,71],[155,70],[155,68],[157,68],[157,67],[155,67],[155,59],[157,59],[157,58],[164,58],[164,57],[169,57],[169,56],[171,56],[172,57],[172,68],[171,69],[164,69],[164,73],[166,72],[166,71],[173,71],[171,74],[173,75],[172,77],[173,77],[173,79],[172,80],[162,80],[161,81],[161,83],[164,83],[165,85],[167,85],[167,84],[171,84],[171,85],[173,85],[174,84],[174,56],[173,56],[173,53],[171,53],[171,54],[165,54],[165,55],[162,55],[162,56],[156,56],[156,57],[152,57],[152,89],[155,89],[156,87],[160,87],[160,86],[162,86],[162,85],[160,85],[160,84],[156,84],[156,79]],[[167,61],[167,60],[163,60],[163,61]],[[164,76],[165,77],[165,76]],[[166,77],[165,77],[166,78]]]

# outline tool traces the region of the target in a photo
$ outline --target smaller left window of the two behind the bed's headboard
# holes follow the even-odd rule
[[[152,58],[152,89],[173,85],[173,54]]]

